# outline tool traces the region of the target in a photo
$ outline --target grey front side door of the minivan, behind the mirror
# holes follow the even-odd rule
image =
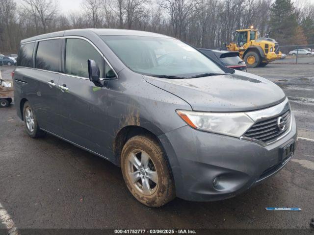
[[[64,42],[64,73],[60,77],[58,100],[65,138],[105,156],[107,88],[89,81],[87,60],[95,60],[105,78],[105,60],[100,51],[83,38]]]

